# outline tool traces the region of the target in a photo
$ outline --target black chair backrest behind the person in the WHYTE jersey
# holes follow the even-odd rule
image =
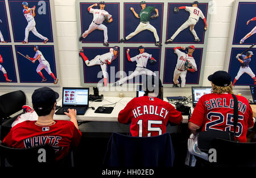
[[[3,146],[0,141],[0,156],[1,160],[6,159],[10,165],[19,167],[49,166],[56,163],[55,151],[49,145],[34,148],[9,148]]]

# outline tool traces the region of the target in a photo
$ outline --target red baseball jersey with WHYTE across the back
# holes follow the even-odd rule
[[[71,121],[56,121],[51,126],[35,125],[36,121],[24,121],[11,128],[10,133],[3,139],[7,147],[31,148],[49,144],[56,152],[56,160],[60,160],[70,147],[77,147],[81,132]]]

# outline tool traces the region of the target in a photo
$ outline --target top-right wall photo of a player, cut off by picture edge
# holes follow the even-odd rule
[[[256,2],[239,2],[233,44],[256,43]]]

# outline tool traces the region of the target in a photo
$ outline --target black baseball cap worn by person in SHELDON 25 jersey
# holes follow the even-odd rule
[[[229,86],[231,82],[231,76],[226,71],[217,71],[209,75],[208,80],[217,86]]]

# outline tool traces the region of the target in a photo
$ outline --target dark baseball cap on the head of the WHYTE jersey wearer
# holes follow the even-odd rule
[[[55,104],[59,94],[49,87],[36,89],[32,94],[32,104],[35,110],[46,110]]]

